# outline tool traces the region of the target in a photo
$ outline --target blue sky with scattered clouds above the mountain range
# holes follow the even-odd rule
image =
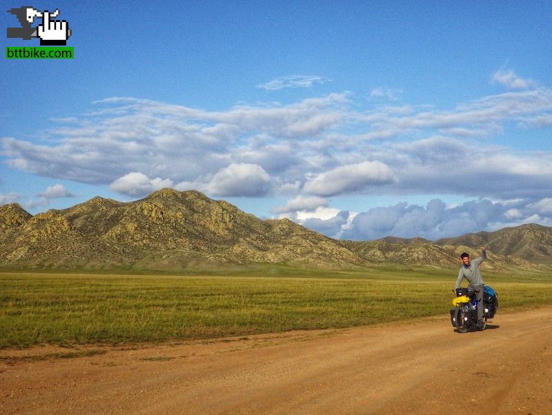
[[[550,1],[32,6],[75,59],[3,59],[0,205],[172,187],[347,239],[552,225]]]

